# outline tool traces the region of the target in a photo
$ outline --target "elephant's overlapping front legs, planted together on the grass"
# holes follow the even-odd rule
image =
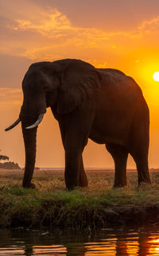
[[[83,169],[82,153],[90,134],[94,111],[77,109],[58,118],[60,133],[65,150],[66,188],[87,186],[87,176]]]

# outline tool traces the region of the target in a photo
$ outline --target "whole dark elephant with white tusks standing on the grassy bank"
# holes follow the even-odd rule
[[[23,187],[31,183],[36,159],[37,126],[47,107],[59,122],[65,152],[66,188],[87,187],[83,149],[88,138],[105,144],[114,159],[114,187],[126,186],[128,154],[138,170],[138,184],[150,183],[149,108],[130,76],[113,68],[95,68],[83,60],[31,64],[22,81],[19,118],[25,143]]]

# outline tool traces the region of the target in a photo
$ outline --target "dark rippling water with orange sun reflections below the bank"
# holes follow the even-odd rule
[[[0,255],[159,255],[159,230],[0,230]]]

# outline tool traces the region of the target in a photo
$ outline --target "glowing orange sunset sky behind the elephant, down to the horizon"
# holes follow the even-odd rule
[[[159,167],[159,1],[158,0],[0,0],[0,149],[25,165],[17,118],[21,80],[29,64],[76,58],[97,68],[118,68],[142,87],[150,110],[149,167]],[[103,145],[89,142],[87,167],[113,167]],[[37,166],[63,167],[58,123],[50,111],[37,135]],[[129,159],[128,167],[134,167]]]

